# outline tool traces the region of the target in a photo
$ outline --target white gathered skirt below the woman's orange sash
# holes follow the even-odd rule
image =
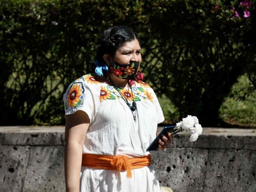
[[[126,171],[81,167],[80,192],[160,192],[152,166]]]

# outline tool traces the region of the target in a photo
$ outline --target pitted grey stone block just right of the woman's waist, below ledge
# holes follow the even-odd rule
[[[161,186],[177,191],[202,191],[207,149],[168,148],[156,151],[152,165]]]

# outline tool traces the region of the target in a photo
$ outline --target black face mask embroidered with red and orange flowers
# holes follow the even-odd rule
[[[121,79],[133,79],[139,68],[140,63],[136,61],[131,62],[127,65],[113,62],[110,65],[109,70],[114,73],[116,77],[119,77]]]

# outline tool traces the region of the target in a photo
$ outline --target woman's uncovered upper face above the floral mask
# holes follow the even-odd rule
[[[115,52],[114,61],[120,64],[129,64],[133,61],[141,63],[141,47],[137,39],[126,42]]]

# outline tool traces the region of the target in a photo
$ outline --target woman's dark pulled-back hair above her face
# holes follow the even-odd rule
[[[121,48],[126,42],[137,39],[137,34],[128,26],[115,26],[105,31],[101,36],[97,48],[96,60],[104,62],[103,56],[108,54],[114,57],[116,50]],[[139,40],[138,40],[139,41]]]

